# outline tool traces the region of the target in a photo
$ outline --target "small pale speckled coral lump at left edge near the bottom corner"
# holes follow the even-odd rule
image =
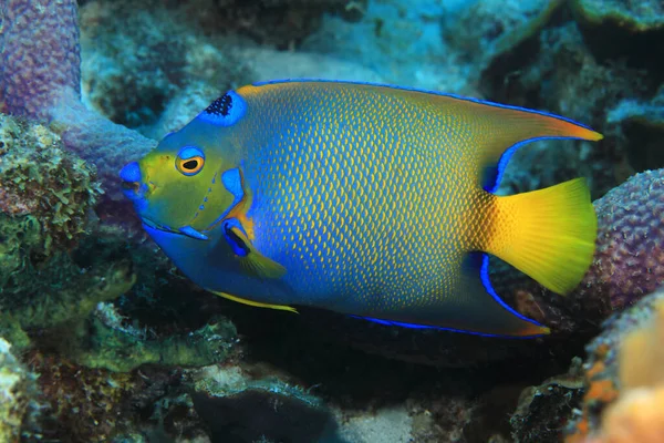
[[[12,354],[11,344],[0,338],[0,441],[18,443],[21,437],[39,436],[37,420],[37,375]]]

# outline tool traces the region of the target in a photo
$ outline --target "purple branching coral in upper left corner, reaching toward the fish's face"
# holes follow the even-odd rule
[[[81,103],[75,0],[6,0],[0,6],[0,111],[53,123],[65,145],[94,163],[111,197],[117,172],[155,142]]]

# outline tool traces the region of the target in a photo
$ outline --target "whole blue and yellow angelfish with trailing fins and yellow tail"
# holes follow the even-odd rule
[[[121,177],[151,236],[212,292],[537,336],[547,328],[490,287],[488,254],[566,293],[590,266],[596,235],[581,179],[492,194],[511,153],[543,137],[601,135],[418,90],[269,82],[218,99]],[[190,158],[200,171],[186,169]]]

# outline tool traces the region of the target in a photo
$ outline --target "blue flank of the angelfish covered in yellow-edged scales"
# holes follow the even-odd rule
[[[242,91],[264,127],[245,136],[257,249],[319,306],[403,312],[455,296],[464,253],[488,235],[477,205],[491,198],[474,153],[454,148],[470,137],[460,121],[362,87],[274,101],[269,87],[256,105],[257,89]]]

